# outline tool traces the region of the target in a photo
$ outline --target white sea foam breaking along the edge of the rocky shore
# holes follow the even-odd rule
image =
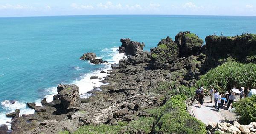
[[[99,82],[101,80],[99,79],[90,79],[91,76],[98,76],[98,78],[102,78],[107,76],[107,73],[100,73],[102,70],[107,72],[107,70],[111,70],[111,64],[118,63],[120,59],[122,59],[125,55],[123,53],[119,53],[117,51],[118,47],[113,47],[113,48],[105,48],[102,50],[102,53],[104,53],[106,56],[101,56],[100,58],[108,61],[108,64],[105,64],[104,67],[99,68],[98,70],[94,70],[93,72],[86,73],[79,78],[76,81],[71,82],[70,84],[76,84],[79,87],[79,93],[82,94],[80,98],[88,98],[91,94],[87,93],[90,90],[93,90],[93,87],[100,87],[103,83]],[[105,57],[108,57],[105,59]],[[89,61],[90,62],[90,61]],[[93,65],[93,64],[90,64]],[[76,70],[80,70],[80,67],[74,67]],[[2,75],[1,75],[2,76]],[[97,88],[98,90],[101,90]],[[53,95],[58,94],[57,88],[56,87],[49,87],[47,90],[47,95],[44,96],[46,98],[47,102],[51,102],[53,100]],[[42,106],[41,104],[42,98],[38,98],[38,100],[35,100],[36,106]],[[15,102],[15,103],[13,103]],[[33,114],[35,111],[34,109],[30,109],[26,106],[26,102],[19,102],[19,101],[10,101],[10,100],[5,100],[1,102],[1,105],[3,109],[5,109],[7,112],[14,112],[15,109],[20,109],[20,116],[22,114]],[[11,118],[8,118],[5,116],[5,113],[0,113],[0,124],[6,124],[8,128],[11,128],[10,123],[6,122],[11,122]]]

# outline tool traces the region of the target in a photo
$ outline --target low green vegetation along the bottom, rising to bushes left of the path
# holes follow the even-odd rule
[[[170,89],[174,88],[174,89]],[[190,116],[185,101],[192,95],[192,89],[175,83],[161,83],[157,89],[169,91],[172,96],[162,107],[145,109],[150,117],[139,117],[131,122],[119,122],[117,125],[87,125],[80,127],[75,134],[205,134],[205,125]],[[191,90],[191,91],[190,91]],[[194,91],[193,91],[194,93]],[[160,97],[163,99],[163,97]]]

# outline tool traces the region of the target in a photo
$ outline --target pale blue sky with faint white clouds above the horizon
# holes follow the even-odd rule
[[[256,16],[256,0],[0,0],[0,17],[119,14]]]

